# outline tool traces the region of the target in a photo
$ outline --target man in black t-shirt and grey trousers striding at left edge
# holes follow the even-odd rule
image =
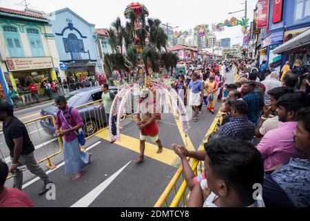
[[[21,190],[23,186],[23,172],[19,170],[19,166],[25,165],[31,173],[43,180],[44,186],[39,191],[39,195],[43,195],[49,190],[47,184],[51,183],[51,181],[34,159],[34,146],[30,140],[27,128],[25,128],[23,122],[14,117],[13,107],[10,104],[0,105],[0,121],[3,122],[3,135],[12,160],[10,173],[14,174],[13,187]]]

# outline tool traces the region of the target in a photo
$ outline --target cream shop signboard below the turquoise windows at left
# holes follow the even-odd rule
[[[51,57],[25,57],[7,59],[6,65],[8,66],[9,71],[54,68]]]

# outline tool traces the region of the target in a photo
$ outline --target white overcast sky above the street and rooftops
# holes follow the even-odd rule
[[[0,0],[0,6],[23,10],[25,7],[17,5],[23,0]],[[96,28],[109,28],[110,23],[121,17],[125,23],[123,12],[126,6],[136,0],[28,0],[29,8],[43,10],[43,12],[54,12],[61,8],[70,8],[86,21],[96,24]],[[163,23],[171,26],[179,26],[177,30],[187,30],[194,26],[207,23],[217,23],[230,19],[244,17],[244,12],[228,15],[245,8],[241,3],[244,0],[141,0],[149,10],[149,17],[161,19]],[[247,16],[253,19],[253,10],[257,0],[248,0]],[[218,39],[231,38],[231,44],[242,43],[242,32],[240,26],[226,28],[218,32]]]

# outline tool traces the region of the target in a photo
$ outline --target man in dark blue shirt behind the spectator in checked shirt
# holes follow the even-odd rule
[[[257,93],[254,92],[255,82],[248,81],[243,85],[243,90],[245,95],[242,99],[247,102],[247,106],[249,106],[249,111],[247,112],[247,117],[249,120],[256,124],[256,115],[258,114],[258,109],[260,106],[260,97]]]

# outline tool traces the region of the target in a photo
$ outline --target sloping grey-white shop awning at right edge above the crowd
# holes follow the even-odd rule
[[[310,29],[306,30],[302,34],[297,37],[287,41],[282,46],[279,46],[275,50],[273,50],[273,54],[284,54],[286,52],[291,52],[294,50],[298,50],[300,48],[307,48],[310,46]]]

